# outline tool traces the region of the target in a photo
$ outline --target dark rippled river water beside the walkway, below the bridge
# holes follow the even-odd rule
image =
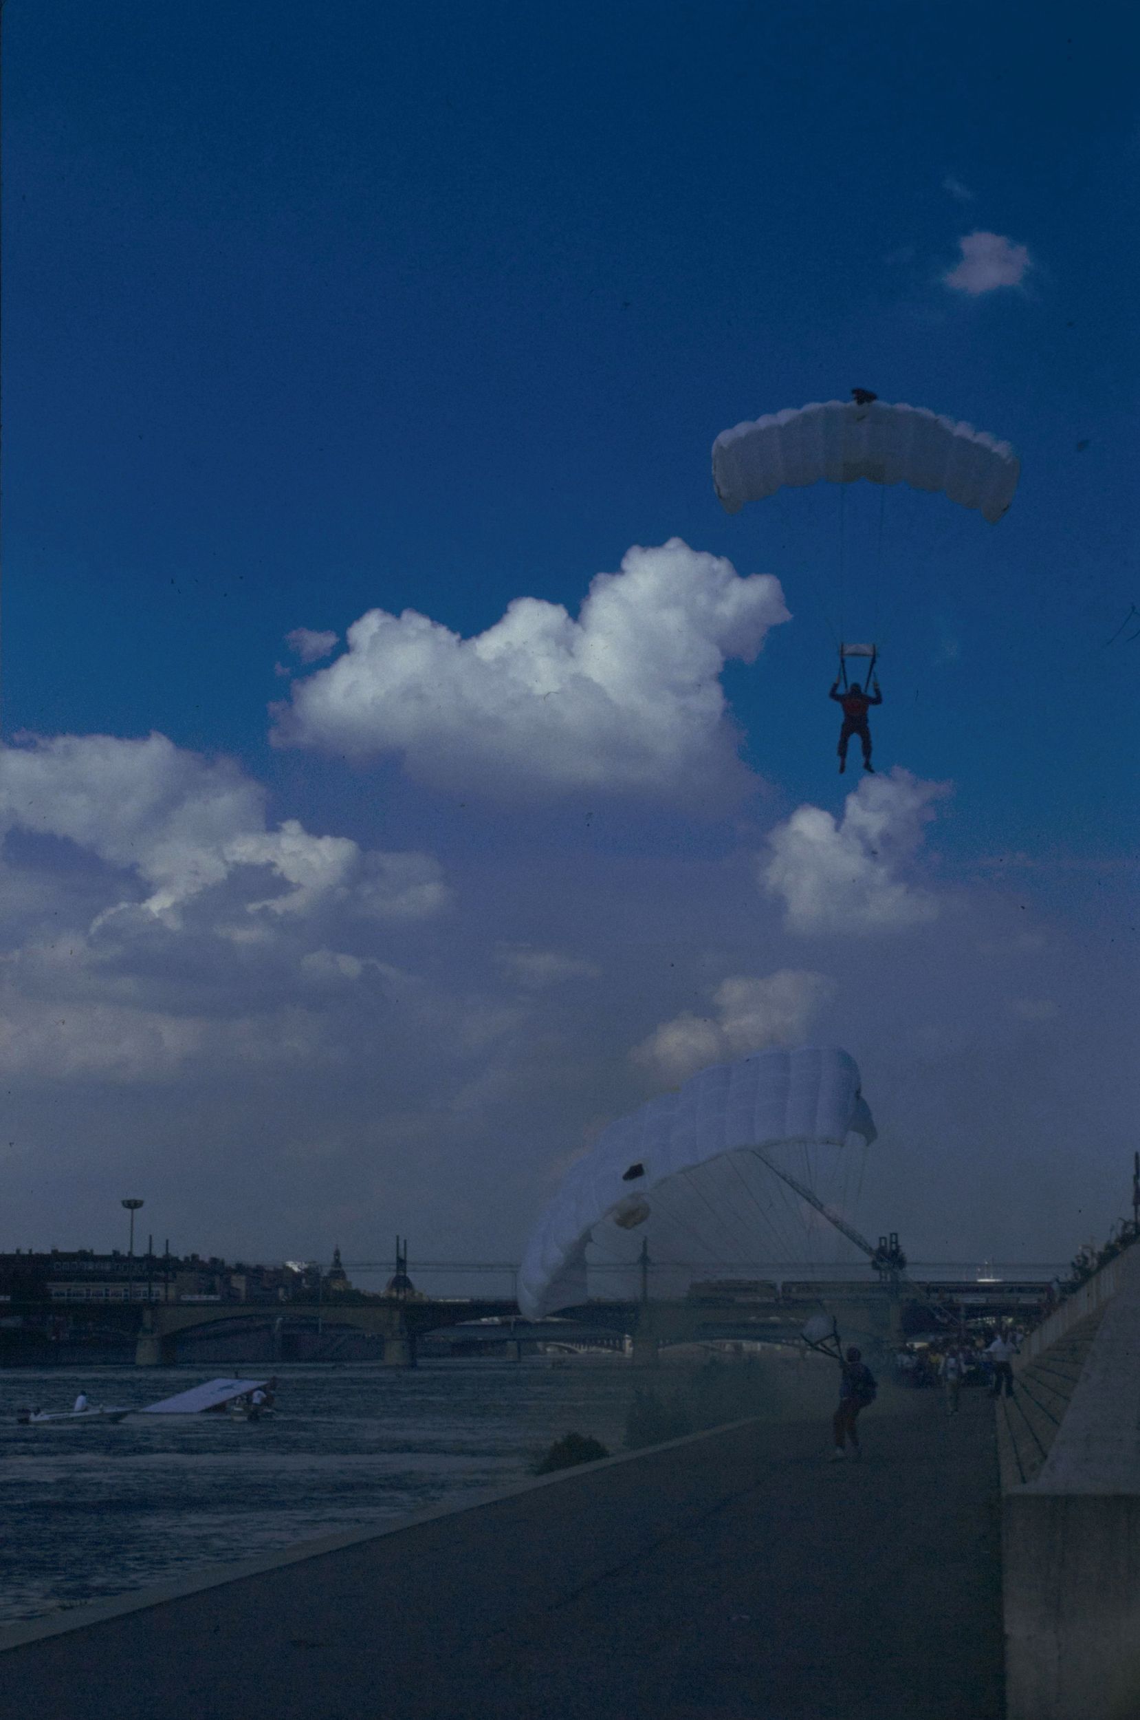
[[[225,1371],[225,1369],[220,1369]],[[241,1367],[229,1369],[244,1378]],[[263,1369],[248,1369],[258,1376]],[[619,1357],[277,1364],[279,1412],[21,1428],[21,1405],[141,1407],[201,1367],[0,1373],[0,1622],[33,1619],[526,1479],[574,1429],[622,1448]]]

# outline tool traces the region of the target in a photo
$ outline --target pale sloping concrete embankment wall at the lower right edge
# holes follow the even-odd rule
[[[999,1405],[1009,1720],[1137,1720],[1140,1245],[1027,1350]]]

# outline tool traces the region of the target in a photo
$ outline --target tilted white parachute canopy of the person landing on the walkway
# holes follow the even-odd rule
[[[870,1144],[875,1125],[846,1051],[758,1051],[702,1070],[610,1123],[569,1168],[526,1245],[521,1312],[540,1319],[583,1304],[588,1268],[597,1293],[636,1295],[643,1238],[655,1295],[683,1295],[693,1278],[726,1266],[803,1257],[820,1226],[834,1249],[837,1233],[772,1164],[841,1204],[851,1135]]]

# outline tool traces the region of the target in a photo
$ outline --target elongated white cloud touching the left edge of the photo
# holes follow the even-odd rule
[[[12,829],[65,838],[132,872],[155,915],[177,915],[242,874],[258,882],[258,872],[272,893],[246,903],[254,913],[304,915],[342,901],[377,918],[420,918],[447,903],[430,855],[370,853],[346,836],[311,836],[296,819],[267,829],[260,784],[165,734],[60,734],[2,748],[0,832]]]

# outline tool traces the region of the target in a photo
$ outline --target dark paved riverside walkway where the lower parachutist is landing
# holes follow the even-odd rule
[[[992,1405],[738,1422],[0,1632],[36,1720],[999,1720]]]

